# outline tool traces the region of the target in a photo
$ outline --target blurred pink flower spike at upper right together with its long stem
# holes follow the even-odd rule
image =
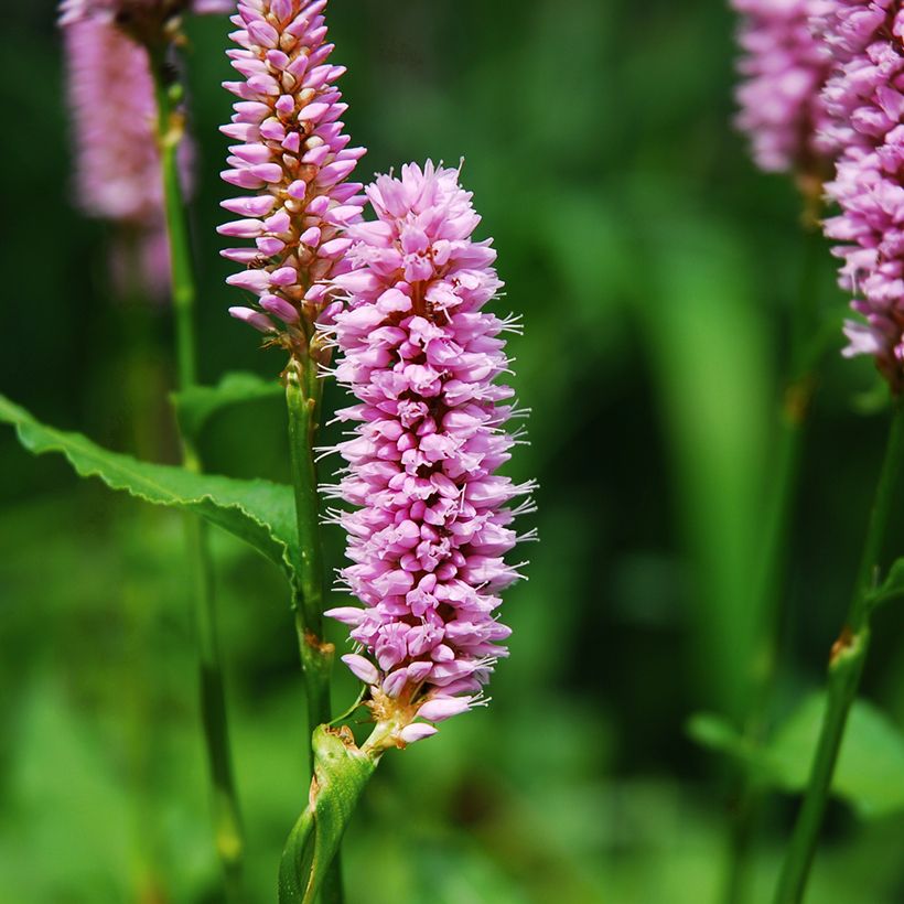
[[[793,173],[803,201],[804,263],[789,316],[789,360],[776,418],[777,439],[770,469],[770,494],[763,546],[754,589],[756,636],[752,692],[744,738],[760,746],[777,665],[779,612],[788,562],[790,528],[800,460],[821,348],[816,341],[816,271],[822,252],[818,215],[822,183],[831,165],[824,128],[828,115],[820,89],[828,78],[831,52],[810,28],[818,0],[733,0],[742,14],[739,44],[743,76],[736,92],[738,127],[751,142],[753,159],[765,172]],[[745,774],[739,782],[730,837],[724,900],[743,900],[750,843],[761,790]]]

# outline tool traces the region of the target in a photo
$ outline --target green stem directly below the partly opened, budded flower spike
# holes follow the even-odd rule
[[[295,631],[304,674],[308,719],[310,729],[313,731],[316,725],[324,725],[332,719],[330,675],[333,665],[333,645],[327,644],[323,638],[325,594],[320,532],[320,496],[314,466],[322,381],[318,378],[316,363],[306,349],[303,359],[292,357],[283,376],[299,534],[298,577],[292,586],[292,607],[295,613]],[[321,900],[323,904],[342,904],[342,871],[338,853],[326,874]]]

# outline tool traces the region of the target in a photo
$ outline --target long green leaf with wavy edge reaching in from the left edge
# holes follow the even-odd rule
[[[77,474],[99,477],[110,489],[125,491],[154,505],[194,512],[247,541],[290,578],[293,575],[298,531],[291,487],[141,462],[103,449],[80,433],[46,427],[4,396],[0,396],[0,422],[14,427],[22,445],[35,455],[58,452]]]

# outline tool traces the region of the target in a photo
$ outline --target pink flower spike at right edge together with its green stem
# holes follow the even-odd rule
[[[837,67],[824,90],[827,138],[840,150],[827,185],[840,214],[826,234],[842,243],[841,286],[859,294],[863,321],[846,325],[847,355],[869,354],[891,388],[893,417],[847,621],[831,649],[822,727],[776,904],[803,900],[816,852],[850,708],[870,645],[872,591],[904,455],[904,230],[901,162],[904,160],[904,11],[894,0],[831,0],[814,24],[832,49]]]

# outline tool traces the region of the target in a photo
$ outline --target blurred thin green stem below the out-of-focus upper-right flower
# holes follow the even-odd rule
[[[815,370],[821,349],[814,342],[819,261],[824,254],[821,233],[805,225],[804,265],[800,287],[790,316],[790,360],[778,412],[778,446],[770,467],[770,499],[763,530],[764,546],[753,603],[757,613],[756,642],[750,712],[744,724],[746,743],[756,749],[765,736],[770,700],[775,682],[783,589],[788,570],[790,534],[794,523],[801,450],[806,434]],[[754,826],[762,805],[762,788],[750,773],[740,782],[730,833],[728,879],[723,900],[740,904],[746,885]]]

